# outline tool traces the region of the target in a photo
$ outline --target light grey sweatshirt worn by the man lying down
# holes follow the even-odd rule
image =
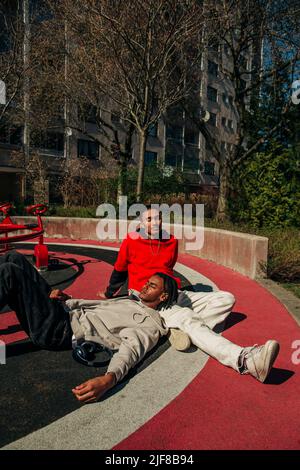
[[[157,310],[130,297],[69,299],[66,305],[77,341],[94,341],[117,350],[107,369],[117,382],[157,344],[160,335],[168,332]]]

